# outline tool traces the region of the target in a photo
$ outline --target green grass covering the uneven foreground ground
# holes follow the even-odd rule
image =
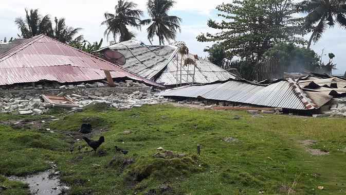
[[[0,126],[0,174],[23,175],[58,165],[69,194],[143,194],[168,183],[177,194],[283,194],[280,185],[293,186],[298,194],[345,194],[346,119],[301,118],[264,115],[251,118],[245,112],[203,111],[171,105],[119,112],[109,107],[90,107],[51,122],[53,131],[78,131],[90,122],[105,143],[98,153],[68,152],[72,139],[59,133],[13,130]],[[241,116],[241,120],[232,120]],[[19,119],[0,115],[0,119]],[[27,118],[37,116],[27,116]],[[43,116],[49,118],[49,116]],[[306,121],[305,121],[306,119]],[[123,131],[136,131],[123,134]],[[93,137],[98,139],[100,135]],[[236,138],[226,143],[225,137]],[[311,148],[330,152],[311,156],[298,143],[318,141]],[[201,155],[196,155],[196,145]],[[84,146],[79,141],[75,148]],[[108,165],[118,146],[129,153]],[[156,148],[187,154],[184,158],[153,158]],[[123,166],[126,159],[134,163]],[[100,167],[94,168],[97,164]],[[4,180],[4,179],[3,179]],[[0,178],[0,186],[5,185]],[[8,182],[8,181],[7,181]],[[7,186],[8,185],[8,186]],[[6,184],[6,193],[25,193],[23,186]],[[13,187],[12,187],[13,186]],[[319,190],[318,186],[324,186]],[[8,192],[11,190],[11,192]],[[0,191],[2,193],[2,191]]]

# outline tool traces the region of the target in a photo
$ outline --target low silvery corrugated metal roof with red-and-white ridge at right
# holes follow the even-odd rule
[[[309,98],[292,79],[281,80],[267,86],[255,85],[238,80],[229,80],[224,83],[178,87],[155,95],[192,98],[202,97],[212,100],[231,101],[295,110],[317,109],[321,106],[322,102],[319,101],[316,104],[314,100]],[[317,95],[314,97],[316,98]],[[323,101],[332,98],[331,96],[323,97]]]

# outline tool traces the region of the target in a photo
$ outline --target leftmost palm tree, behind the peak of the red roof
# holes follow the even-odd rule
[[[38,9],[25,9],[25,19],[22,17],[16,17],[14,23],[18,29],[22,32],[22,38],[31,38],[39,34],[46,34],[47,36],[53,36],[52,23],[49,15],[41,16]]]

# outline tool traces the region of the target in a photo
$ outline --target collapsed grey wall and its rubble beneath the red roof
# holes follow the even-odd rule
[[[42,84],[22,84],[2,86],[0,90],[0,112],[4,114],[41,115],[51,108],[70,109],[69,112],[82,111],[90,104],[106,103],[118,110],[139,108],[142,105],[159,104],[171,100],[153,97],[151,88],[143,83],[126,80],[115,82],[110,87],[106,81],[94,83],[71,83],[62,85],[57,82]],[[47,97],[67,97],[73,101],[54,104]]]

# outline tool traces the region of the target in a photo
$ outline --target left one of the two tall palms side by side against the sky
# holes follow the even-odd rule
[[[143,11],[135,9],[137,4],[133,2],[119,0],[115,6],[115,14],[104,13],[105,21],[101,25],[106,25],[104,36],[108,38],[112,35],[114,40],[120,35],[120,41],[131,40],[135,34],[128,29],[128,26],[139,28],[140,17]]]

